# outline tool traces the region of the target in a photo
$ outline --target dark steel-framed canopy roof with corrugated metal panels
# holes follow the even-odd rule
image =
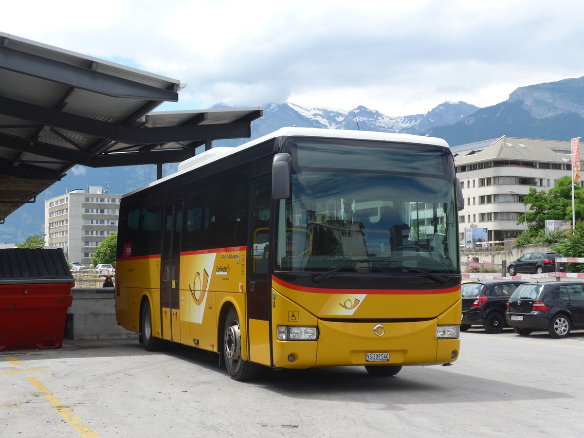
[[[165,78],[0,32],[0,223],[89,167],[183,161],[211,140],[251,137],[262,107],[154,112]]]

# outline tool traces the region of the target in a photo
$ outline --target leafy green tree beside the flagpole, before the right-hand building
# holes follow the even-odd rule
[[[550,190],[537,191],[531,187],[524,197],[524,203],[531,204],[527,211],[530,230],[545,230],[546,220],[572,220],[572,179],[562,176]],[[584,218],[584,188],[574,185],[574,205],[576,221]],[[526,220],[522,214],[517,224]]]

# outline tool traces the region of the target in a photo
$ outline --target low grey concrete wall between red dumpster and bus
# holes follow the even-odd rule
[[[68,339],[131,339],[138,333],[117,325],[113,288],[72,288],[65,324]]]

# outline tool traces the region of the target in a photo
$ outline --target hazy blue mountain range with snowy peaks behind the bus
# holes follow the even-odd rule
[[[215,106],[221,107],[221,106]],[[387,116],[364,106],[350,110],[307,108],[294,103],[268,103],[263,117],[252,122],[252,137],[217,140],[214,146],[237,146],[284,126],[360,129],[390,133],[432,135],[451,146],[509,137],[564,140],[584,133],[584,77],[517,88],[509,99],[479,108],[465,102],[444,102],[426,114]],[[166,164],[163,175],[176,171]],[[93,169],[75,166],[60,182],[49,187],[35,203],[25,204],[0,224],[0,242],[23,242],[44,232],[44,200],[67,192],[103,186],[109,193],[127,193],[152,182],[152,165]]]

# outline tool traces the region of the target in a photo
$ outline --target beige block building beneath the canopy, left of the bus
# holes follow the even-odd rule
[[[69,262],[91,265],[91,256],[107,236],[117,232],[121,194],[103,187],[77,189],[44,203],[45,245],[62,248]]]

